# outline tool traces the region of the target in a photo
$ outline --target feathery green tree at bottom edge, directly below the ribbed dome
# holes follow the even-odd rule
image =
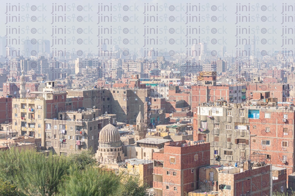
[[[109,196],[117,191],[120,178],[113,172],[102,171],[98,167],[71,171],[65,177],[60,195],[66,196]]]

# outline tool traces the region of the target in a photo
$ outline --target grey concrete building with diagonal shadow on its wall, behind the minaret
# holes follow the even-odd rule
[[[117,115],[117,121],[127,124],[135,123],[141,105],[141,111],[145,119],[150,121],[150,89],[140,88],[110,88],[93,90],[67,91],[68,97],[83,97],[83,107],[96,106],[102,114]]]

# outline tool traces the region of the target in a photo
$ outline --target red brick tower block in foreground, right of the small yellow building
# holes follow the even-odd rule
[[[210,144],[190,140],[165,143],[153,153],[156,196],[183,196],[199,187],[199,168],[209,165]]]

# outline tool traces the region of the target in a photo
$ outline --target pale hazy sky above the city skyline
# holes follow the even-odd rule
[[[224,45],[227,52],[235,53],[237,48],[244,49],[246,41],[252,43],[254,34],[256,51],[295,49],[294,1],[2,2],[0,35],[7,36],[8,41],[16,38],[17,44],[8,45],[21,50],[23,40],[35,38],[49,40],[50,50],[66,48],[84,53],[97,53],[101,39],[107,49],[119,45],[131,51],[151,47],[186,51],[200,41],[208,43],[209,50],[220,51]],[[17,28],[17,34],[15,30],[9,33],[9,27]],[[63,32],[59,29],[56,34],[55,28]],[[243,33],[240,28],[244,28]],[[282,36],[283,28],[289,34]],[[55,44],[58,39],[59,44]]]

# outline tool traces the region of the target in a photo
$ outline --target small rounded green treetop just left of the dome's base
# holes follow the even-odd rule
[[[86,166],[94,166],[97,162],[92,147],[69,155],[69,161],[80,170],[85,169]]]

